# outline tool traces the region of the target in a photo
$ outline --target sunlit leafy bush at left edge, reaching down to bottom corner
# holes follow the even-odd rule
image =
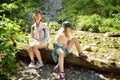
[[[19,51],[16,47],[16,41],[25,41],[24,34],[16,22],[8,18],[0,17],[0,52],[6,53],[6,56],[0,60],[1,79],[9,79],[16,72],[18,63],[15,60],[15,53]]]

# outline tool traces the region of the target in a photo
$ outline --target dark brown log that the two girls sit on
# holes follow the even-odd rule
[[[55,64],[52,55],[51,55],[51,49],[42,49],[40,50],[42,60],[44,63],[49,64]],[[22,60],[23,62],[29,63],[30,58],[28,55],[27,50],[21,50],[20,52],[16,53],[16,59]],[[97,60],[85,60],[81,57],[78,57],[74,55],[73,53],[70,53],[65,57],[65,66],[72,66],[72,67],[78,67],[78,68],[85,68],[89,70],[93,70],[100,73],[120,73],[120,67],[118,67],[115,63],[105,63],[103,61],[97,61]]]

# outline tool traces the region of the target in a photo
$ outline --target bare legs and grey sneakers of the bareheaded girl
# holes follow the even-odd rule
[[[33,43],[30,44],[29,56],[30,56],[32,62],[29,64],[29,67],[40,68],[43,66],[39,48],[42,49],[44,47],[47,47],[47,43],[41,43],[38,41],[34,41]],[[36,56],[38,59],[38,62],[36,65],[34,63],[34,56]]]

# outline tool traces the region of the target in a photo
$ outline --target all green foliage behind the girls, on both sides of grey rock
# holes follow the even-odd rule
[[[0,1],[0,54],[7,54],[0,60],[1,79],[9,79],[17,71],[20,63],[15,60],[15,53],[20,49],[15,42],[26,42],[31,25],[25,20],[26,14],[40,6],[42,12],[45,12],[43,2]],[[120,33],[120,0],[63,0],[63,6],[57,19],[48,23],[52,31],[59,29],[57,21],[69,20],[76,30]]]

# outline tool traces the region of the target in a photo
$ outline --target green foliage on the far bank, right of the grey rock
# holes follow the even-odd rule
[[[69,20],[77,30],[119,32],[119,0],[63,0],[58,20]]]

